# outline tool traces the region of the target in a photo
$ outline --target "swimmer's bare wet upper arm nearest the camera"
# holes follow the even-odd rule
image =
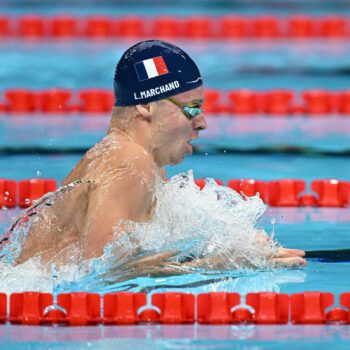
[[[118,232],[113,232],[113,228],[119,220],[147,221],[156,172],[152,158],[143,149],[133,148],[127,150],[125,162],[119,155],[115,164],[124,164],[124,168],[104,169],[101,177],[113,171],[116,175],[103,178],[103,184],[97,185],[89,198],[83,233],[85,258],[101,256],[105,245],[118,239]],[[122,227],[119,228],[122,231]]]

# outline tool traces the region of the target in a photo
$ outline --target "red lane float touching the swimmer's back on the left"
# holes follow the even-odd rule
[[[33,202],[48,192],[57,189],[56,180],[52,179],[29,179],[19,182],[19,201],[22,208],[29,207]]]

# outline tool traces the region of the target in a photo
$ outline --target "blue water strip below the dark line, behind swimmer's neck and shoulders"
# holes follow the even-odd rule
[[[82,154],[73,155],[0,155],[1,177],[55,178],[61,181],[79,161]],[[339,167],[341,164],[341,167]],[[320,178],[339,178],[350,181],[350,159],[347,156],[298,154],[228,154],[209,153],[186,157],[184,162],[167,167],[168,176],[188,169],[196,178],[213,177],[223,180],[254,178],[275,180],[300,178],[308,182]],[[40,174],[38,175],[38,171]]]

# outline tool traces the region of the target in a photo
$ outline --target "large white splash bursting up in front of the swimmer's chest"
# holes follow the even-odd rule
[[[200,191],[189,171],[161,182],[156,198],[152,222],[133,227],[132,237],[143,251],[173,251],[175,261],[200,256],[198,266],[206,269],[269,265],[276,244],[273,239],[262,243],[256,227],[266,209],[258,196],[242,197],[213,179]]]

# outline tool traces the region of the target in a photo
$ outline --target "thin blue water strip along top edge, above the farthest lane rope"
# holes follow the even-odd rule
[[[2,13],[7,14],[61,14],[74,13],[76,15],[180,15],[193,16],[227,15],[238,13],[243,15],[277,14],[288,15],[290,13],[307,13],[310,15],[349,14],[349,6],[346,0],[285,0],[283,5],[278,0],[179,0],[176,3],[169,0],[63,0],[57,3],[49,0],[37,3],[33,0],[4,0],[0,4]]]

